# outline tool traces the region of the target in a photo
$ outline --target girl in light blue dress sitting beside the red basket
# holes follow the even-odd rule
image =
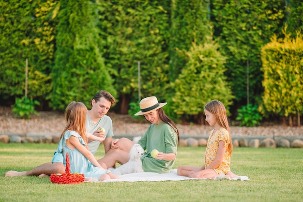
[[[97,178],[99,181],[120,179],[117,175],[107,170],[104,163],[100,165],[89,151],[85,128],[86,117],[87,108],[81,102],[73,101],[65,109],[67,123],[61,133],[61,142],[59,143],[64,156],[64,166],[66,166],[65,155],[68,153],[71,173],[83,173],[85,177]]]

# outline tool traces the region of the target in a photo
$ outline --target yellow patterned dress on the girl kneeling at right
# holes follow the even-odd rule
[[[214,130],[214,129],[213,129]],[[224,141],[224,147],[227,148],[227,145],[230,143],[228,131],[225,128],[220,128],[213,134],[213,130],[211,131],[211,135],[207,140],[207,146],[205,151],[205,168],[209,167],[209,165],[212,163],[212,161],[216,158],[218,148],[219,148],[219,141]],[[231,154],[229,154],[228,151],[225,152],[223,162],[218,167],[213,169],[216,174],[227,174],[230,165],[230,157]]]

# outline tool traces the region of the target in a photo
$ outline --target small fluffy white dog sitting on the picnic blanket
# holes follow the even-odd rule
[[[134,144],[129,152],[129,161],[118,168],[112,170],[112,173],[124,175],[128,173],[144,172],[140,157],[144,155],[144,150],[140,144]]]

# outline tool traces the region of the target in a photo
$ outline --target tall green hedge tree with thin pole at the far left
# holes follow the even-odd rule
[[[28,58],[28,96],[47,100],[51,92],[58,0],[1,1],[0,96],[3,100],[25,93]]]

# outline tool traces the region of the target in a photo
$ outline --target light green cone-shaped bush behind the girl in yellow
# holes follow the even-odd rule
[[[172,97],[176,114],[198,115],[198,122],[203,123],[204,105],[213,99],[220,100],[228,110],[233,95],[224,75],[226,57],[219,49],[212,42],[186,52],[188,62],[175,82]]]

